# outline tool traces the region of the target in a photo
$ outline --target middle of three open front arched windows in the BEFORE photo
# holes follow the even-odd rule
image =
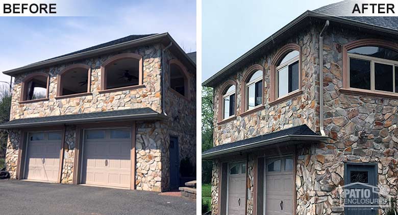
[[[90,67],[85,64],[67,66],[58,75],[57,96],[90,92]]]

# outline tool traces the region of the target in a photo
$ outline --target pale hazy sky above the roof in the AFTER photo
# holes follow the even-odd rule
[[[202,0],[202,82],[307,10],[341,0]]]

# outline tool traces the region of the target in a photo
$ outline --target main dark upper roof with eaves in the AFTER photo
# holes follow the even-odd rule
[[[330,21],[330,26],[341,25],[353,31],[363,31],[369,34],[381,34],[382,36],[398,39],[398,20],[396,19],[398,17],[339,17],[335,15],[338,14],[338,7],[342,7],[338,4],[339,3],[335,3],[314,11],[308,10],[304,12],[279,31],[272,34],[251,50],[228,64],[226,67],[219,70],[212,77],[204,81],[202,86],[216,86],[219,82],[226,80],[230,75],[234,74],[242,66],[277,47],[281,42],[288,39],[290,35],[298,31],[302,31],[309,25],[324,25],[326,20]]]

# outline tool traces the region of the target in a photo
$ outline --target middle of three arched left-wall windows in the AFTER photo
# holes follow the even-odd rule
[[[256,70],[245,83],[246,110],[253,109],[263,103],[263,71]]]

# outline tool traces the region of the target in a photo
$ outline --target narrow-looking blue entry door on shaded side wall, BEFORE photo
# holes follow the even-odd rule
[[[178,138],[170,137],[170,188],[175,189],[180,186],[180,153]]]

